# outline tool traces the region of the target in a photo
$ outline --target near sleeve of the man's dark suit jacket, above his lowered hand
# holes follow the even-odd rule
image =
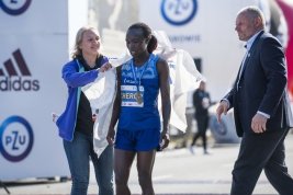
[[[273,116],[286,87],[285,57],[281,44],[271,37],[263,41],[260,49],[260,62],[268,84],[258,111]]]

